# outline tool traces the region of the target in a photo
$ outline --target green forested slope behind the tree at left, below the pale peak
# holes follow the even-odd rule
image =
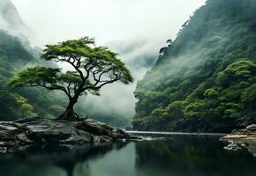
[[[0,31],[0,120],[16,120],[41,115],[55,117],[64,111],[64,99],[38,88],[13,89],[7,80],[27,65],[46,64],[38,51],[4,31]],[[26,46],[26,47],[25,47]],[[56,92],[55,92],[56,95]]]

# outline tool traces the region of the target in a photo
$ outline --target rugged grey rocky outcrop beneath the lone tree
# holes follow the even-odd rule
[[[90,119],[61,121],[36,117],[19,121],[0,121],[1,150],[38,143],[113,143],[136,139],[139,137]]]

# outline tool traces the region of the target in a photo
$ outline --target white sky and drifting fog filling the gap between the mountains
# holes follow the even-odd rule
[[[6,0],[1,0],[6,1]],[[33,46],[41,47],[82,36],[108,46],[132,71],[130,85],[112,84],[101,97],[80,99],[85,114],[102,121],[128,125],[132,121],[136,83],[157,59],[159,49],[205,0],[12,0],[26,26]],[[0,22],[1,22],[0,18]],[[3,20],[2,20],[3,21]],[[4,23],[3,23],[4,24]],[[105,118],[105,119],[104,119]]]

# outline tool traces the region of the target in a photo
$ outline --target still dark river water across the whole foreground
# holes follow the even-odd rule
[[[166,137],[166,136],[165,136]],[[167,139],[168,138],[168,139]],[[167,136],[138,143],[33,146],[0,155],[1,176],[256,175],[246,148],[224,150],[219,136]]]

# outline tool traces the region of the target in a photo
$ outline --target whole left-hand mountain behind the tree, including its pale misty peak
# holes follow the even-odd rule
[[[45,93],[39,88],[10,89],[6,82],[27,66],[46,63],[39,48],[27,40],[31,31],[9,0],[0,1],[0,120],[12,121],[29,116],[53,117],[64,111],[61,94]]]

